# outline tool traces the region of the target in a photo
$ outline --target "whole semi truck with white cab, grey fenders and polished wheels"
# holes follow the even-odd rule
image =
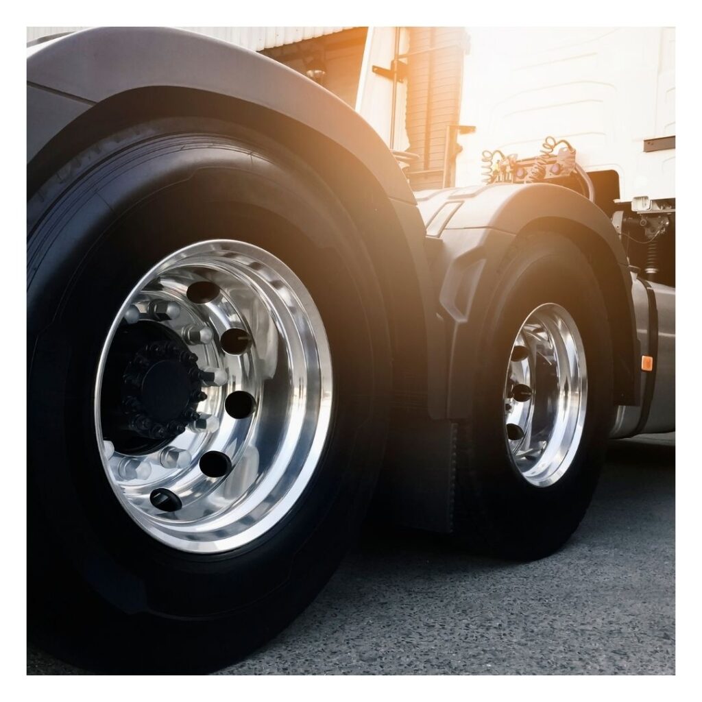
[[[28,628],[86,668],[246,656],[369,508],[547,557],[675,427],[673,30],[310,29],[29,44]]]

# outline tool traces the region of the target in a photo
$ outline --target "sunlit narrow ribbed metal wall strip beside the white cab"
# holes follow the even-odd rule
[[[419,161],[405,172],[414,190],[442,187],[446,128],[458,124],[467,35],[463,27],[410,27],[406,127]]]

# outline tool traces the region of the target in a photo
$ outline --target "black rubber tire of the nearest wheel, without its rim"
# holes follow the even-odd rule
[[[156,541],[107,484],[93,386],[111,320],[155,263],[203,239],[270,251],[310,291],[333,364],[310,484],[256,541],[217,555]],[[119,673],[201,672],[284,628],[366,512],[388,411],[383,299],[340,201],[271,140],[219,121],[152,121],[79,155],[29,201],[29,637]]]

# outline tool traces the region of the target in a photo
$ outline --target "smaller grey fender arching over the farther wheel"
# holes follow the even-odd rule
[[[518,237],[536,230],[568,237],[590,258],[611,310],[607,323],[614,341],[614,402],[639,401],[632,278],[607,216],[590,200],[558,185],[489,185],[468,193],[446,225],[433,271],[447,330],[449,418],[469,418],[475,340],[502,262]]]

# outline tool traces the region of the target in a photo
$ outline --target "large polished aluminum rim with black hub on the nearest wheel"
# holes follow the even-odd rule
[[[140,280],[102,348],[105,474],[159,541],[238,548],[310,482],[332,390],[322,318],[289,267],[241,241],[187,246]]]

